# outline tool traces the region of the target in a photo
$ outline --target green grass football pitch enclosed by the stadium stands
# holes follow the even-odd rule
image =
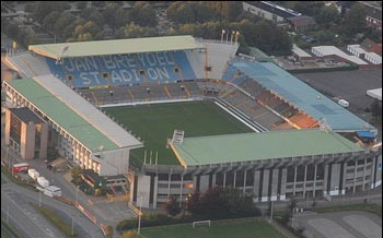
[[[172,139],[175,129],[184,130],[185,138],[251,132],[245,124],[218,107],[213,102],[186,102],[121,106],[103,108],[107,114],[125,124],[136,136],[144,141],[144,147],[132,150],[131,157],[147,163],[152,152],[152,163],[159,153],[159,164],[177,165],[177,158],[166,140]]]

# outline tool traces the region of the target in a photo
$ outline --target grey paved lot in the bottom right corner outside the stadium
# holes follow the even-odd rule
[[[304,227],[307,238],[381,238],[382,218],[362,212],[299,214],[294,227]]]

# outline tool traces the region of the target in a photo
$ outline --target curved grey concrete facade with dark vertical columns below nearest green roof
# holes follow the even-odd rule
[[[244,194],[252,195],[254,202],[283,201],[292,197],[333,197],[381,186],[382,151],[233,163],[217,167],[183,168],[147,164],[135,175],[138,178],[148,175],[154,177],[147,181],[150,182],[149,188],[158,188],[156,192],[144,192],[152,195],[149,207],[156,207],[156,203],[166,202],[171,195],[177,195],[182,198],[179,202],[185,202],[189,193],[205,192],[216,186],[235,187]],[[188,188],[185,185],[189,185]],[[147,189],[148,185],[143,188]],[[135,198],[132,201],[137,202]]]

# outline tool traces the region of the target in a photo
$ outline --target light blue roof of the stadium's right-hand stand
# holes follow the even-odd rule
[[[376,130],[274,63],[233,61],[233,66],[317,121],[325,118],[335,131]]]

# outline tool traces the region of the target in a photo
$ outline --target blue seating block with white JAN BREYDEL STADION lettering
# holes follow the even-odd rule
[[[171,83],[196,78],[183,51],[46,59],[54,75],[81,87]]]

